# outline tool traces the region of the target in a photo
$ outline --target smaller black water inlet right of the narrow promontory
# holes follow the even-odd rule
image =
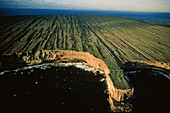
[[[166,73],[154,69],[138,69],[126,70],[125,75],[135,89],[131,99],[133,112],[169,111],[170,81]]]

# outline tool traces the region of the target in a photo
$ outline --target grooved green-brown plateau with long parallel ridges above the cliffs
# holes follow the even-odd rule
[[[35,50],[84,51],[102,59],[110,70],[120,70],[129,60],[170,62],[170,28],[165,26],[104,15],[0,19],[1,55]]]

